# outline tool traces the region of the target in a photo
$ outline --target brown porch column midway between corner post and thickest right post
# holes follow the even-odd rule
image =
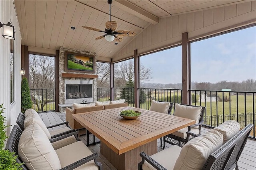
[[[134,104],[135,107],[140,107],[140,80],[139,80],[139,73],[140,73],[140,60],[138,56],[138,50],[134,50]]]

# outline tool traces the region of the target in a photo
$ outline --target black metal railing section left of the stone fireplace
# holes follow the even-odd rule
[[[55,89],[30,89],[30,97],[35,111],[55,111]]]

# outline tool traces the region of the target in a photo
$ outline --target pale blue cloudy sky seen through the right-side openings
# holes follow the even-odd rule
[[[152,69],[148,83],[182,83],[181,46],[140,57]],[[191,44],[191,79],[197,82],[256,79],[256,27]]]

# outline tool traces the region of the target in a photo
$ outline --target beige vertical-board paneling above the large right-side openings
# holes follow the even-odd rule
[[[134,49],[142,54],[181,43],[184,32],[192,40],[252,23],[256,23],[256,1],[162,18],[118,51],[113,61],[132,57]]]

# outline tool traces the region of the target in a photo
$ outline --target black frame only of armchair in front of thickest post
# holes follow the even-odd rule
[[[180,105],[185,105],[185,104],[180,104]],[[198,107],[198,106],[194,106],[194,105],[185,105],[185,106]],[[202,128],[202,124],[204,123],[204,113],[205,113],[205,107],[203,107],[203,106],[201,106],[201,107],[202,107],[202,109],[201,109],[201,112],[200,112],[199,122],[194,124],[194,125],[188,126],[188,132],[190,132],[192,127],[197,127],[198,126],[198,128],[199,128],[199,135],[201,134],[201,128]],[[163,149],[165,148],[166,142],[169,143],[169,144],[172,144],[172,145],[177,144],[178,146],[182,147],[189,140],[190,140],[190,133],[187,133],[187,137],[186,138],[181,138],[181,137],[175,136],[173,134],[168,134],[168,135],[164,136],[164,146],[163,146]]]

